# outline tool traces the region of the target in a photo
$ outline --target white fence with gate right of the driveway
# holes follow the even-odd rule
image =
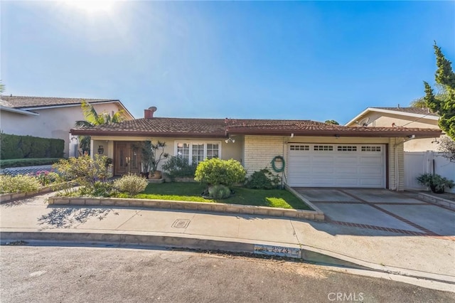
[[[455,181],[455,163],[435,151],[405,152],[405,189],[425,190],[416,181],[417,176],[425,173],[439,174]],[[455,187],[446,188],[446,191],[455,193]]]

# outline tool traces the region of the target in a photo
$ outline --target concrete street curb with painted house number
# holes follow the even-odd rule
[[[267,243],[259,241],[242,242],[235,238],[199,237],[169,233],[92,233],[83,230],[78,232],[29,230],[0,231],[1,244],[18,240],[52,241],[60,243],[77,243],[81,245],[110,244],[122,246],[134,245],[139,248],[181,248],[192,250],[216,250],[220,252],[245,252],[252,255],[289,257],[319,265],[346,267],[355,270],[385,272],[387,274],[414,277],[455,285],[455,277],[438,275],[430,272],[419,272],[397,267],[377,265],[341,255],[336,252],[321,250],[307,245],[284,243]]]

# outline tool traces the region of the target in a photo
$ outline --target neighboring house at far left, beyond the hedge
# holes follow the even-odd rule
[[[65,140],[65,156],[76,156],[77,137],[70,129],[84,115],[80,104],[89,102],[98,113],[124,111],[124,119],[134,119],[119,100],[60,97],[0,97],[0,128],[5,134],[21,134]]]

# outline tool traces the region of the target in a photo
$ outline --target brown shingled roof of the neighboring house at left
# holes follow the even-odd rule
[[[83,99],[83,98],[60,98],[60,97],[28,97],[28,96],[1,96],[0,105],[11,108],[33,108],[58,105],[79,105],[85,100],[89,103],[118,101],[111,99]]]

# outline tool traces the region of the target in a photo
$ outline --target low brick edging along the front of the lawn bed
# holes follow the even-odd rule
[[[188,211],[208,211],[217,213],[242,213],[248,215],[273,216],[285,218],[301,218],[309,220],[324,220],[321,211],[305,211],[301,209],[274,208],[267,206],[250,206],[229,203],[205,203],[171,200],[151,200],[137,198],[83,198],[51,196],[50,205],[76,206],[130,206],[144,208],[178,209]],[[311,206],[313,208],[313,206]]]

